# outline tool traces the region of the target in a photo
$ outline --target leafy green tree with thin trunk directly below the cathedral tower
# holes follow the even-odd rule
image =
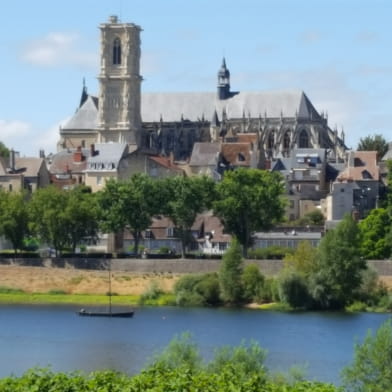
[[[158,194],[158,182],[145,174],[135,174],[128,181],[108,181],[97,196],[103,230],[118,232],[128,228],[137,253],[142,231],[159,211]]]

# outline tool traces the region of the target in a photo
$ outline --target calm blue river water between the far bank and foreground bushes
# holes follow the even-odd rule
[[[277,313],[257,310],[140,308],[133,319],[79,317],[75,307],[0,306],[0,377],[34,366],[55,371],[139,371],[174,335],[193,334],[205,358],[215,348],[253,339],[267,366],[307,364],[309,379],[338,383],[355,339],[387,314]]]

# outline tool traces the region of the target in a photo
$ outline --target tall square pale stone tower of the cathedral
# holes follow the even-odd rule
[[[111,16],[101,30],[98,142],[139,144],[140,31],[133,23]]]

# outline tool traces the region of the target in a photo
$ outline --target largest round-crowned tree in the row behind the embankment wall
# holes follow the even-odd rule
[[[284,215],[284,185],[276,172],[239,168],[227,171],[217,185],[214,213],[234,234],[247,255],[252,234],[269,230]]]

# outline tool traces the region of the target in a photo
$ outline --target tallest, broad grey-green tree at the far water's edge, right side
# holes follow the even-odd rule
[[[348,214],[321,240],[317,272],[311,276],[311,294],[319,307],[343,308],[353,301],[367,268],[360,243],[357,223]]]

